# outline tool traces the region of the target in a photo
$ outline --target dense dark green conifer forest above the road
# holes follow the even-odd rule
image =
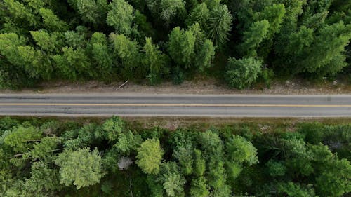
[[[1,0],[0,88],[350,75],[351,1]]]

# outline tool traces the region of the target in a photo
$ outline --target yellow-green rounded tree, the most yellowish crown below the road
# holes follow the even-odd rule
[[[157,175],[159,173],[159,165],[164,154],[159,140],[148,139],[140,144],[138,148],[137,161],[135,163],[143,170],[143,172],[150,175]]]

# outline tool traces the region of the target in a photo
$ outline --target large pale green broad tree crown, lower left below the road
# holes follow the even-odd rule
[[[65,150],[58,155],[55,164],[60,166],[60,184],[73,184],[77,189],[97,184],[104,175],[98,149]]]

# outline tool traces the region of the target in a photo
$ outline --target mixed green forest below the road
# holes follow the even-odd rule
[[[351,125],[282,125],[171,131],[117,116],[80,122],[1,118],[0,196],[350,194]]]

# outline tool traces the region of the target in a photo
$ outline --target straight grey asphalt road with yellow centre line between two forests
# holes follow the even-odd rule
[[[1,116],[351,117],[351,95],[1,95]]]

